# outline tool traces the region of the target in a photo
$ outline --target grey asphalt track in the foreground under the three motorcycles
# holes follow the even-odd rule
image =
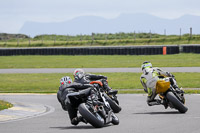
[[[95,129],[89,124],[70,124],[67,112],[61,109],[56,95],[4,95],[10,102],[42,104],[53,108],[36,117],[0,123],[1,133],[200,133],[200,95],[186,95],[186,114],[163,106],[149,107],[146,95],[119,94],[122,111],[119,125]]]

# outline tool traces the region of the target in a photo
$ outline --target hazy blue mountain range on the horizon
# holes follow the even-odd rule
[[[65,22],[26,22],[19,33],[36,36],[41,34],[77,35],[116,32],[152,32],[167,35],[189,33],[200,34],[200,16],[184,15],[177,19],[163,19],[149,14],[121,14],[114,19],[97,16],[81,16]]]

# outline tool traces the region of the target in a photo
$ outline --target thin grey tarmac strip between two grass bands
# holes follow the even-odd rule
[[[141,68],[82,68],[85,72],[133,72],[141,73]],[[200,67],[161,67],[169,72],[198,72]],[[30,68],[30,69],[0,69],[0,73],[73,73],[75,68]]]

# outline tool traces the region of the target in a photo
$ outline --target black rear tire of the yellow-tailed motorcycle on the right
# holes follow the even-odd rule
[[[167,100],[174,106],[175,109],[177,109],[180,113],[187,112],[188,108],[185,107],[185,105],[178,100],[178,98],[172,93],[168,92],[166,94]]]

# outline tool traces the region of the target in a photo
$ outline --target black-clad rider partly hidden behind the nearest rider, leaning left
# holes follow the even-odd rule
[[[89,84],[91,81],[100,80],[103,83],[103,88],[108,92],[108,94],[117,91],[112,90],[112,88],[108,86],[106,76],[85,73],[83,69],[74,70],[73,76],[74,82],[81,84]]]

